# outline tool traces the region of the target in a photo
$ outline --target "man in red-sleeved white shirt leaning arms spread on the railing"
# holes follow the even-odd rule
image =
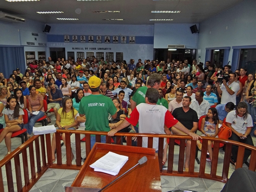
[[[198,140],[198,138],[201,138],[197,134],[192,133],[187,128],[185,128],[164,106],[157,105],[158,96],[158,90],[154,88],[148,88],[145,95],[146,103],[137,105],[130,116],[128,116],[116,128],[113,128],[108,132],[108,136],[113,137],[117,131],[120,131],[130,124],[136,126],[139,122],[139,133],[172,134],[169,128],[174,126],[180,131],[183,131],[184,133],[191,136],[193,140]],[[142,146],[148,146],[147,138],[143,138]],[[153,148],[158,150],[158,138],[153,139]]]

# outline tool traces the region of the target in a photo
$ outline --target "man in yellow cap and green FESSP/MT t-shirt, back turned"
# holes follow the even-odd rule
[[[92,76],[88,81],[92,94],[81,99],[79,105],[79,116],[86,116],[85,131],[110,131],[108,126],[108,113],[116,119],[116,107],[109,97],[99,93],[101,79]],[[73,137],[72,137],[73,136]],[[75,150],[76,141],[74,134],[71,136],[71,147]],[[83,139],[85,135],[81,135]],[[91,148],[96,142],[96,137],[91,136]],[[106,137],[101,137],[101,143],[106,143]],[[85,148],[81,148],[81,155],[85,154]]]

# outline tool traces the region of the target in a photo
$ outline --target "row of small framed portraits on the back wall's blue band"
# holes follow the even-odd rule
[[[78,35],[64,35],[64,42],[73,42],[73,43],[113,43],[113,44],[118,44],[119,41],[121,44],[135,44],[135,36],[96,36],[96,39],[94,39],[95,36],[93,35],[79,35],[80,41],[78,40]],[[71,39],[70,39],[71,38]],[[127,42],[128,38],[128,42]],[[112,40],[112,41],[111,41]]]

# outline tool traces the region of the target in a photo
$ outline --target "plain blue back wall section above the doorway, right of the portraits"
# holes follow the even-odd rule
[[[197,48],[198,34],[191,33],[190,26],[195,23],[155,23],[154,48],[166,49],[169,44],[185,45],[188,49]]]

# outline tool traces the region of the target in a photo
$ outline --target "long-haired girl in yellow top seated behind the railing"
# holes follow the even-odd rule
[[[64,97],[62,100],[63,108],[60,108],[56,117],[56,129],[64,129],[64,130],[76,130],[76,126],[79,124],[75,117],[78,113],[75,108],[73,108],[73,102],[70,97]],[[66,145],[65,134],[62,134],[62,139],[64,144]],[[55,141],[55,133],[52,136],[52,163],[55,162],[55,149],[56,149],[56,141]],[[73,159],[72,154],[72,159]]]

